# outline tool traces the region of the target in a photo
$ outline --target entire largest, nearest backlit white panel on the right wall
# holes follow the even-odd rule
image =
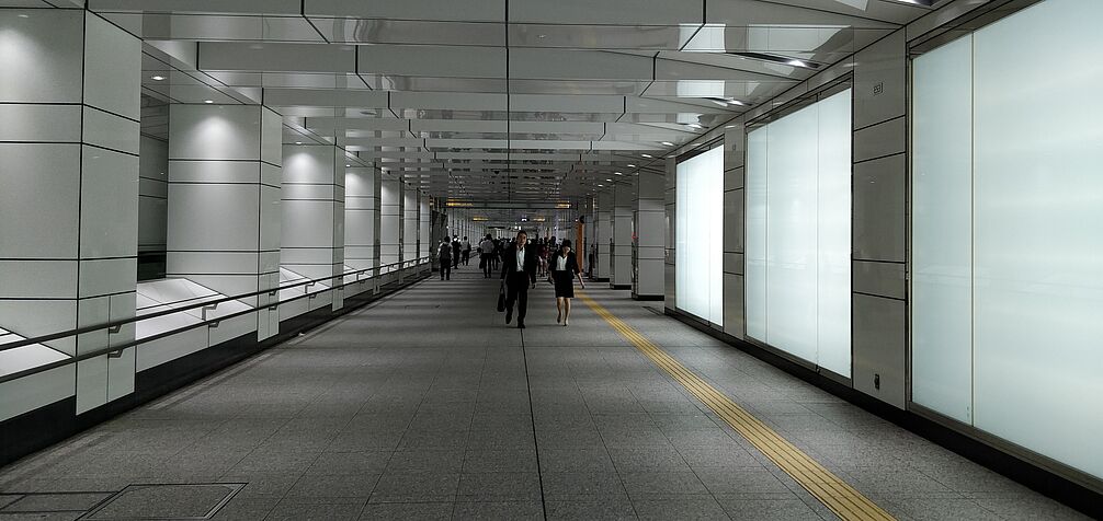
[[[947,102],[939,82],[951,78],[949,102],[959,107],[932,109],[913,129],[917,271],[927,271],[913,306],[915,400],[968,421],[964,394],[977,428],[1096,477],[1103,68],[1094,64],[1103,36],[1093,21],[1101,17],[1094,0],[1048,0],[976,31],[972,42],[932,51],[918,61],[917,94]],[[973,84],[963,87],[963,77]],[[1031,106],[1041,96],[1047,102]],[[971,135],[963,115],[972,115]],[[939,172],[924,175],[931,169]],[[971,225],[962,222],[966,211]],[[968,292],[971,305],[962,302]],[[946,370],[953,393],[932,392]]]

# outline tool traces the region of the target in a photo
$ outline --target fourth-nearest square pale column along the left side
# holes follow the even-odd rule
[[[379,267],[379,191],[375,169],[345,172],[345,263],[354,270]]]

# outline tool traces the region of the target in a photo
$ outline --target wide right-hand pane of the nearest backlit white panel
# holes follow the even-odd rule
[[[1051,0],[976,32],[973,246],[976,425],[1103,477],[1101,19]]]

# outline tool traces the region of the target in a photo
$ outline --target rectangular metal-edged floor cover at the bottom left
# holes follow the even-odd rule
[[[245,484],[130,485],[81,519],[211,519]]]

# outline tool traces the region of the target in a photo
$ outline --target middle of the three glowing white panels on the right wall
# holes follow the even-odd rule
[[[747,139],[747,333],[849,376],[850,90]]]

